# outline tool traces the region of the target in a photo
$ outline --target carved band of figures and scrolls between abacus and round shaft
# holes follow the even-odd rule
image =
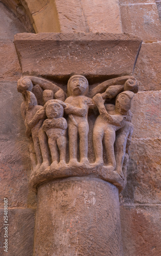
[[[126,179],[133,132],[131,100],[138,92],[134,77],[110,79],[89,92],[86,77],[74,75],[68,80],[66,95],[46,79],[25,76],[18,80],[17,90],[24,99],[21,113],[30,139],[32,176],[45,169],[86,166],[95,170],[102,166]],[[92,127],[89,109],[95,119]],[[89,143],[93,161],[88,158]]]

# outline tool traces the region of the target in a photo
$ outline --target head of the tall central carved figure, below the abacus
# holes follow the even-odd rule
[[[68,96],[87,95],[88,89],[89,84],[85,76],[74,75],[70,77],[67,85]]]

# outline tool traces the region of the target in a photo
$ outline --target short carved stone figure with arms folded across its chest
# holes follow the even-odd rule
[[[51,152],[52,164],[55,166],[64,165],[66,163],[66,129],[67,121],[63,117],[65,103],[61,100],[49,100],[44,105],[46,119],[43,122],[42,128],[48,137],[48,145]],[[59,148],[59,153],[57,150]],[[60,157],[59,157],[60,154]]]

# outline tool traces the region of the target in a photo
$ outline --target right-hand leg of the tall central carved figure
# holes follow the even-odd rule
[[[88,161],[88,132],[89,125],[84,122],[78,126],[79,134],[79,154],[82,163],[89,164]]]

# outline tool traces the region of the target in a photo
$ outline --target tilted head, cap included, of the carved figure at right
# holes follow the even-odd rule
[[[134,93],[130,91],[125,91],[120,93],[116,97],[115,109],[120,114],[127,114],[127,111],[131,108],[131,99],[133,98]]]

